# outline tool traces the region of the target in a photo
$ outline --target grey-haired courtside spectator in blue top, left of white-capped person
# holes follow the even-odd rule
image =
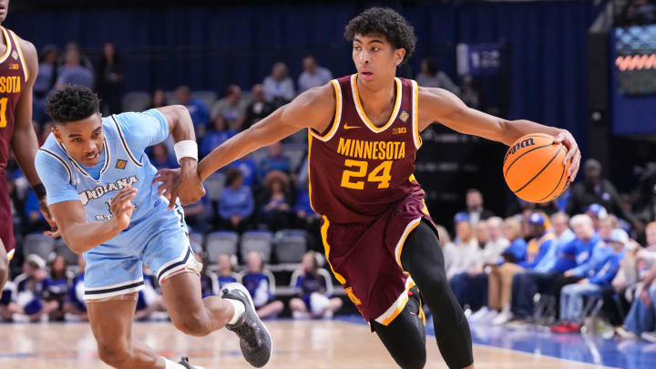
[[[571,269],[581,267],[579,271],[589,271],[590,255],[595,248],[603,247],[599,234],[592,228],[589,216],[579,214],[572,217],[571,227],[574,229],[576,239],[563,245],[556,254],[556,262],[547,271],[543,272],[536,267],[534,271],[521,272],[513,277],[511,312],[515,320],[527,320],[533,314],[533,296],[537,293],[553,293],[554,284],[559,277]],[[538,265],[539,266],[539,265]],[[498,317],[497,317],[498,318]],[[509,319],[508,319],[509,320]],[[497,323],[506,323],[507,320]]]

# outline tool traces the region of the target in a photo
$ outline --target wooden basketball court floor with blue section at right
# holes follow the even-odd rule
[[[395,368],[389,354],[360,317],[334,321],[269,321],[274,340],[267,368]],[[429,334],[432,329],[429,328]],[[656,368],[656,344],[619,343],[579,334],[512,331],[473,324],[477,369]],[[205,338],[177,332],[170,323],[135,323],[134,338],[170,358],[191,364],[249,368],[233,333]],[[432,337],[429,337],[431,339]],[[426,368],[446,368],[435,341],[427,344]],[[0,324],[0,368],[108,368],[97,358],[88,323]]]

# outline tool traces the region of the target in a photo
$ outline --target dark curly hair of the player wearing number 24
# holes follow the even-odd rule
[[[404,64],[415,52],[415,28],[388,7],[371,7],[355,16],[346,25],[344,37],[353,41],[355,35],[381,34],[395,48],[405,48]]]

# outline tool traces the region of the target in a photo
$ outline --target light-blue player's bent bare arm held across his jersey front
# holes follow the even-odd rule
[[[134,210],[130,200],[136,195],[137,189],[129,186],[119,190],[111,200],[112,218],[109,220],[87,223],[84,207],[79,200],[57,202],[50,205],[50,211],[68,248],[73,252],[82,253],[113,239],[128,228]]]

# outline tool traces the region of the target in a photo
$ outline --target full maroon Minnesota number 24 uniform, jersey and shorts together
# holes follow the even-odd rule
[[[387,325],[414,282],[400,255],[407,235],[430,220],[413,175],[421,146],[416,82],[395,78],[395,106],[382,127],[364,113],[357,75],[331,81],[332,125],[308,134],[310,200],[322,214],[326,257],[367,321]]]

